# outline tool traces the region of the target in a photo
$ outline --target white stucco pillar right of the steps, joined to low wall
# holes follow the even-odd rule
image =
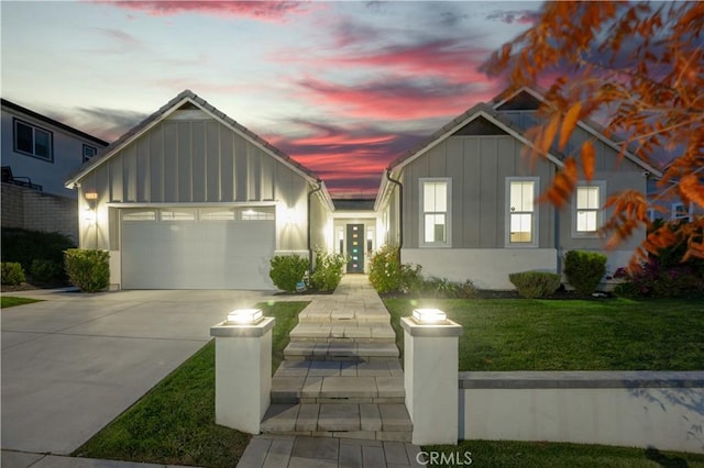
[[[417,445],[457,444],[459,421],[459,337],[462,326],[402,317],[406,408]]]

